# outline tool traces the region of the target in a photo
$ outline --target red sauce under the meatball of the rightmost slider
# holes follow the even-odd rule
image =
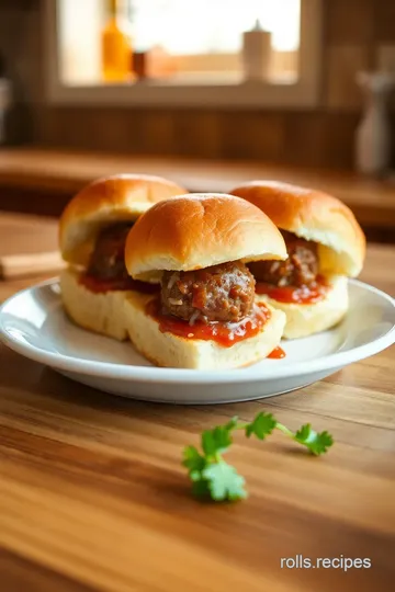
[[[309,286],[274,286],[266,282],[257,282],[256,293],[266,294],[279,303],[314,304],[323,300],[330,285],[321,275],[317,275],[314,284]]]

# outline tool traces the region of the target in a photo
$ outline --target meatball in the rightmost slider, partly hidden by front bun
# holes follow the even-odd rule
[[[317,244],[282,232],[289,259],[285,261],[257,261],[248,266],[258,282],[275,286],[308,286],[318,273]]]

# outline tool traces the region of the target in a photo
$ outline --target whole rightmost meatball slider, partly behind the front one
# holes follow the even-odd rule
[[[232,194],[258,206],[284,237],[289,259],[250,265],[258,301],[286,314],[284,337],[338,323],[348,309],[347,277],[360,273],[365,255],[352,212],[331,195],[275,181],[253,181]]]

